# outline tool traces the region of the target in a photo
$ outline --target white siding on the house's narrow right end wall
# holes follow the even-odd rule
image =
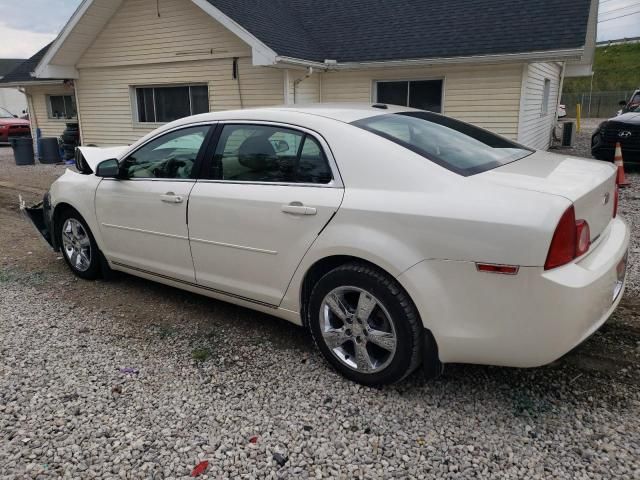
[[[532,63],[523,70],[522,112],[518,141],[539,150],[549,148],[555,123],[562,67],[556,63]],[[551,81],[547,113],[543,114],[545,79]]]

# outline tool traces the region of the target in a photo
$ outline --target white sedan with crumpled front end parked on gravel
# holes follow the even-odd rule
[[[624,290],[612,165],[430,112],[208,113],[76,161],[25,209],[76,275],[119,270],[284,318],[367,385],[420,364],[552,362]]]

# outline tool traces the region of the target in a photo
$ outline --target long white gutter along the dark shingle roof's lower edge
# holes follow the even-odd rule
[[[333,61],[316,62],[292,57],[276,57],[276,63],[294,65],[298,67],[313,67],[322,70],[357,70],[366,68],[393,68],[393,67],[416,67],[435,66],[449,64],[477,64],[477,63],[508,63],[508,62],[552,62],[580,60],[584,55],[584,47],[565,50],[543,50],[538,52],[507,53],[499,55],[472,55],[466,57],[436,57],[419,58],[412,60],[375,60],[364,62],[343,62]]]

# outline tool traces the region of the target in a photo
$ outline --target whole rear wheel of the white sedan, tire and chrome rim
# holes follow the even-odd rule
[[[365,263],[348,263],[314,286],[307,323],[325,359],[368,386],[407,377],[422,358],[424,329],[398,282]]]

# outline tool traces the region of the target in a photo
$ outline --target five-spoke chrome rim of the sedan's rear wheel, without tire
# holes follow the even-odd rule
[[[369,292],[338,287],[322,300],[320,328],[331,353],[361,373],[384,370],[398,344],[389,312]]]

